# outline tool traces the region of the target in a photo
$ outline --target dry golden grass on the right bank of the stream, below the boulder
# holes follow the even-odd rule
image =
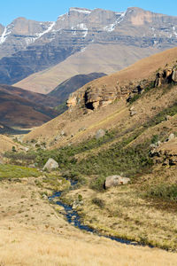
[[[159,184],[161,181],[158,176],[143,176],[140,182],[144,183],[145,178],[149,183],[150,178],[157,178]],[[84,204],[79,210],[84,222],[98,231],[152,246],[177,249],[175,204],[172,211],[166,210],[162,202],[156,205],[153,201],[143,200],[140,197],[141,185],[139,191],[138,196],[134,185],[120,186],[106,192],[93,192],[84,188],[70,192],[66,198],[76,200],[79,194],[82,195]],[[103,200],[104,207],[94,204],[92,200],[95,198]]]

